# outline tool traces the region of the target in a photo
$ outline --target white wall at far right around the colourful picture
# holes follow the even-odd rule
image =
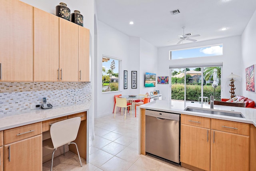
[[[242,76],[242,95],[256,101],[256,93],[246,91],[245,68],[256,64],[255,40],[256,40],[256,11],[248,22],[242,34],[242,62],[240,73]],[[255,66],[254,66],[255,67]],[[254,68],[254,71],[256,68]],[[254,75],[254,79],[256,76]],[[255,80],[254,80],[255,81]]]

